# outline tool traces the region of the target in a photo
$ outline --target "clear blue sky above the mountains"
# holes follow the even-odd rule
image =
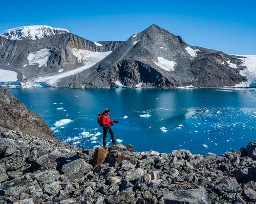
[[[68,29],[91,41],[126,40],[151,24],[192,45],[256,55],[255,1],[3,1],[0,33],[25,25]]]

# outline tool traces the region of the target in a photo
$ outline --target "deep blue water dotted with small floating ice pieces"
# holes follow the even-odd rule
[[[188,149],[193,154],[220,155],[256,140],[253,88],[9,90],[45,119],[56,138],[83,149],[102,146],[97,115],[104,108],[119,121],[112,127],[115,139],[132,144],[134,151]],[[70,122],[56,126],[57,121]],[[112,145],[109,134],[107,142]]]

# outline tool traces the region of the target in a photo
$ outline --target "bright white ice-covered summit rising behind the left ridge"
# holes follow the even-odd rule
[[[69,33],[66,29],[52,28],[47,25],[31,25],[8,29],[0,35],[10,40],[37,40],[51,35]]]

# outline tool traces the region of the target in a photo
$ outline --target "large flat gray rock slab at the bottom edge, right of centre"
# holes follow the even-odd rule
[[[207,193],[203,189],[170,191],[163,195],[165,204],[210,204]]]

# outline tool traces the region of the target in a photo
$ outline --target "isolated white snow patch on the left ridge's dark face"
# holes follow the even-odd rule
[[[34,53],[28,54],[29,65],[39,64],[38,67],[44,66],[51,53],[50,49],[40,49]]]

